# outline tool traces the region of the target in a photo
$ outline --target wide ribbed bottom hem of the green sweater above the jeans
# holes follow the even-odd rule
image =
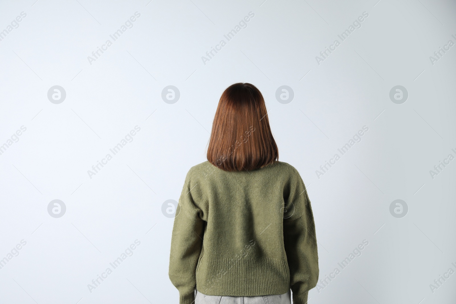
[[[214,259],[198,268],[196,280],[197,290],[207,295],[285,294],[290,270],[286,261],[274,258]]]

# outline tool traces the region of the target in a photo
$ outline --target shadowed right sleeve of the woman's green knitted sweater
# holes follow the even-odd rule
[[[285,202],[284,245],[290,268],[293,304],[306,304],[308,291],[318,281],[318,255],[311,202],[301,176],[295,171]]]

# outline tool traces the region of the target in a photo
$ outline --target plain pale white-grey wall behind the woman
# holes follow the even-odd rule
[[[309,303],[454,303],[456,274],[430,284],[456,271],[456,160],[434,178],[430,170],[456,156],[456,46],[434,64],[430,56],[456,43],[455,1],[1,1],[0,31],[21,12],[0,41],[0,145],[26,127],[0,155],[0,259],[26,245],[0,269],[1,303],[177,303],[173,218],[161,207],[206,160],[218,99],[234,82],[263,93],[279,160],[308,187],[320,278],[369,242]],[[133,27],[90,64],[135,12]],[[249,12],[248,26],[204,64]],[[363,12],[361,27],[318,64]],[[67,94],[60,104],[47,98],[54,85]],[[168,85],[180,91],[174,104],[161,98]],[[275,98],[282,85],[294,91],[290,103]],[[405,103],[389,98],[396,85]],[[361,142],[318,178],[363,126]],[[54,199],[67,208],[60,218],[47,211]],[[402,218],[389,211],[396,199],[409,207]],[[136,239],[134,254],[90,292]]]

